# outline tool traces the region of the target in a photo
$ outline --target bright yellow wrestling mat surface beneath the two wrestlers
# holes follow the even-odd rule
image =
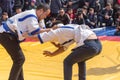
[[[120,80],[120,44],[115,41],[102,41],[100,55],[87,61],[87,80]],[[24,63],[25,80],[63,80],[63,60],[70,53],[55,57],[45,57],[43,50],[54,51],[50,43],[23,42],[21,47],[26,57]],[[83,53],[84,54],[84,53]],[[0,45],[0,80],[8,80],[12,61]],[[73,67],[73,80],[78,80],[77,64]]]

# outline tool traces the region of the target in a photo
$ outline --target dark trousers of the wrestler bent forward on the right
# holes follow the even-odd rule
[[[64,60],[64,80],[72,80],[72,66],[78,64],[79,80],[86,80],[85,61],[98,55],[102,49],[98,39],[86,40],[84,45],[74,49]]]

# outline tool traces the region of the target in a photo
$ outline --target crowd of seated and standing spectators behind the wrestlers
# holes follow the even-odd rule
[[[39,21],[43,28],[60,21],[86,24],[92,29],[116,26],[120,32],[120,0],[0,0],[0,23],[22,11],[35,9],[40,3],[51,8],[51,14]]]

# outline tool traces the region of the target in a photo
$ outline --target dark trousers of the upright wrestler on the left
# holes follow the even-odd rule
[[[0,33],[0,44],[6,49],[13,61],[8,80],[24,80],[22,65],[25,57],[17,37],[10,33]]]

